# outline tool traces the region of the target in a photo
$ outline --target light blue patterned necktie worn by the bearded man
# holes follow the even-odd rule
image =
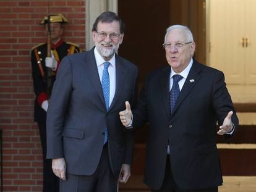
[[[108,73],[109,65],[110,65],[109,62],[104,62],[104,69],[103,69],[102,81],[101,81],[101,86],[103,90],[107,111],[109,108],[109,73]],[[108,141],[108,128],[105,128],[104,144],[106,143],[106,141]]]

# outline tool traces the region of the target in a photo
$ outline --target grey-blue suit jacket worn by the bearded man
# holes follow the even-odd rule
[[[106,111],[93,49],[62,59],[47,112],[47,157],[64,157],[67,172],[92,175],[100,161],[105,128],[112,172],[132,164],[134,133],[120,122],[125,101],[135,104],[137,67],[116,55],[116,93]]]

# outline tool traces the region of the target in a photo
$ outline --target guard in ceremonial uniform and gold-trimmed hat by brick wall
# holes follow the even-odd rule
[[[40,24],[45,25],[45,33],[49,34],[50,39],[48,36],[48,43],[38,44],[31,51],[33,86],[36,95],[34,116],[40,130],[43,150],[43,192],[59,191],[59,178],[51,169],[51,159],[46,159],[46,111],[51,89],[61,59],[80,52],[79,46],[61,39],[64,23],[68,21],[62,14],[46,15]],[[49,51],[50,56],[47,56]]]

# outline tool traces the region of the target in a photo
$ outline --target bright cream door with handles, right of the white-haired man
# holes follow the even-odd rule
[[[236,103],[256,101],[255,0],[207,0],[207,64],[224,72]]]

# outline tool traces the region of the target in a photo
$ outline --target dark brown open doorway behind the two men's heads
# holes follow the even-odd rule
[[[170,25],[192,30],[195,59],[205,64],[205,0],[119,0],[118,14],[126,23],[119,54],[139,67],[139,88],[148,72],[168,64],[161,44]]]

